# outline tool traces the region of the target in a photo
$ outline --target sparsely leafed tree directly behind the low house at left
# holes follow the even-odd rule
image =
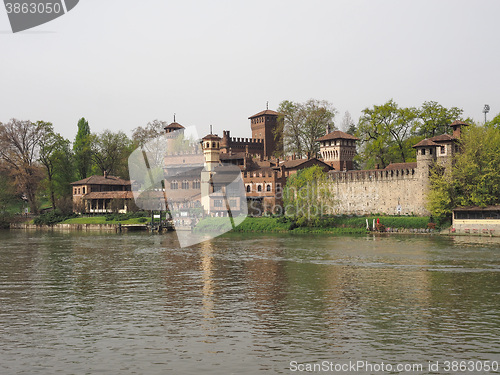
[[[92,158],[101,174],[116,174],[128,178],[128,157],[134,149],[133,142],[122,132],[104,130],[92,136]]]

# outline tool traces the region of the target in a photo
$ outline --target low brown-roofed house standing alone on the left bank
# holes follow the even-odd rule
[[[90,176],[73,182],[73,211],[78,213],[125,213],[134,204],[131,183],[116,176]]]

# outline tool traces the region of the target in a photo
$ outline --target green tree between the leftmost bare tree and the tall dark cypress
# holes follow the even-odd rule
[[[52,208],[56,209],[56,198],[71,195],[70,183],[74,179],[70,143],[55,133],[51,123],[39,122],[44,127],[40,139],[40,163],[45,167],[47,188]]]

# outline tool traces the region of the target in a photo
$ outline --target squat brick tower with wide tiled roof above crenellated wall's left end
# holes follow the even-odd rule
[[[339,130],[328,131],[326,135],[317,139],[320,143],[320,154],[323,161],[331,165],[336,171],[353,169],[356,141],[358,139]]]

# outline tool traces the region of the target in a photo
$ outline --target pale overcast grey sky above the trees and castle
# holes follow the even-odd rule
[[[0,122],[44,120],[73,140],[154,119],[249,137],[283,100],[346,111],[437,101],[500,113],[500,1],[80,0],[13,34],[0,7]]]

